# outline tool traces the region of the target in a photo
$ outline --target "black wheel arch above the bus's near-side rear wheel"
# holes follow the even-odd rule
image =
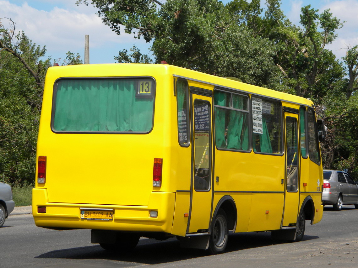
[[[224,195],[217,203],[213,216],[211,218],[209,230],[211,230],[213,219],[215,218],[220,208],[222,208],[226,213],[228,229],[233,230],[234,232],[237,224],[237,209],[236,203],[230,195]]]

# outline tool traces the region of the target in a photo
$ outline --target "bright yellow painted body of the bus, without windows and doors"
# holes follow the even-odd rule
[[[155,81],[155,89],[151,88],[151,91],[155,90],[154,123],[149,133],[66,134],[52,131],[53,91],[57,79],[141,76],[152,77]],[[213,112],[210,133],[212,186],[205,193],[193,190],[193,142],[187,147],[178,143],[177,96],[173,85],[178,77],[187,79],[191,87],[207,91],[219,87],[221,90],[239,90],[248,96],[268,96],[294,109],[313,104],[298,96],[171,65],[51,67],[45,80],[38,136],[37,156],[47,156],[47,171],[46,182],[36,182],[33,189],[36,225],[185,236],[210,231],[217,204],[229,196],[237,213],[234,232],[282,227],[285,155],[256,154],[253,150],[245,153],[218,150]],[[214,110],[211,96],[193,96],[193,100],[209,101]],[[152,184],[154,158],[163,158],[161,187]],[[316,223],[323,213],[318,190],[323,182],[322,165],[309,158],[301,158],[300,163],[299,206],[286,208],[299,212],[303,200],[310,197],[315,211],[313,223]],[[37,212],[37,208],[42,206],[47,208],[46,213]],[[80,208],[113,209],[114,219],[110,222],[81,220]],[[158,211],[158,217],[149,217],[150,210]]]

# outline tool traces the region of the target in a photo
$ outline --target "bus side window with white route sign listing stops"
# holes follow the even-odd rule
[[[281,103],[251,96],[251,104],[254,152],[281,155],[283,153]]]

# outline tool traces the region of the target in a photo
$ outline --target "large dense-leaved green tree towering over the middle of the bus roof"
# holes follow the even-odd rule
[[[272,62],[275,45],[252,35],[259,27],[260,1],[233,1],[224,6],[217,0],[79,0],[92,3],[103,22],[117,34],[124,26],[135,38],[153,41],[155,62],[221,76],[236,76],[247,83],[272,86],[277,67]],[[251,27],[251,28],[250,28]],[[126,50],[116,59],[133,62]],[[142,62],[142,61],[134,61]]]

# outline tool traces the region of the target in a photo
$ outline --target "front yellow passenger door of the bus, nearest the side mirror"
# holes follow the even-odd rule
[[[286,165],[285,165],[285,204],[282,226],[297,222],[299,208],[300,156],[297,114],[285,112]]]

